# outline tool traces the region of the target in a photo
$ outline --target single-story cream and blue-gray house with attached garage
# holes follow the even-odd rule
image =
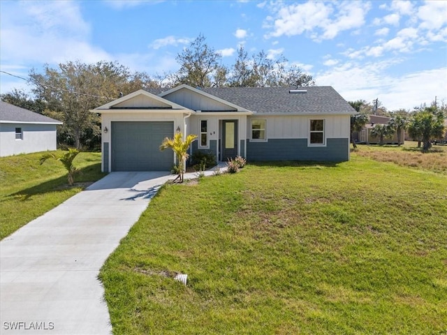
[[[196,134],[194,151],[219,161],[348,161],[351,114],[332,87],[226,87],[186,84],[139,90],[97,107],[102,120],[102,169],[170,170],[174,154],[160,151],[176,131]]]

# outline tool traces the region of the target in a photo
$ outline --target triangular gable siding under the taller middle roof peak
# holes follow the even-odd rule
[[[189,89],[179,89],[163,98],[177,103],[178,105],[189,108],[190,110],[212,110],[214,112],[222,110],[232,110],[232,107],[219,103],[214,99],[208,98]]]

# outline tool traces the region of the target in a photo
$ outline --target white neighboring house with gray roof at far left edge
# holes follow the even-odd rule
[[[0,157],[55,150],[61,121],[0,101]]]

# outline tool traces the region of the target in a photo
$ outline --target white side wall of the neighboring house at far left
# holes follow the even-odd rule
[[[15,139],[15,128],[22,128],[22,140]],[[0,157],[56,149],[55,124],[0,124]]]

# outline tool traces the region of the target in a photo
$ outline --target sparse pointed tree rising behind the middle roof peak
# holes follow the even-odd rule
[[[222,81],[221,77],[217,80],[219,74],[226,73],[220,65],[222,56],[207,45],[205,40],[205,36],[200,34],[188,48],[177,54],[175,59],[180,64],[180,69],[174,75],[175,85],[212,87]]]

